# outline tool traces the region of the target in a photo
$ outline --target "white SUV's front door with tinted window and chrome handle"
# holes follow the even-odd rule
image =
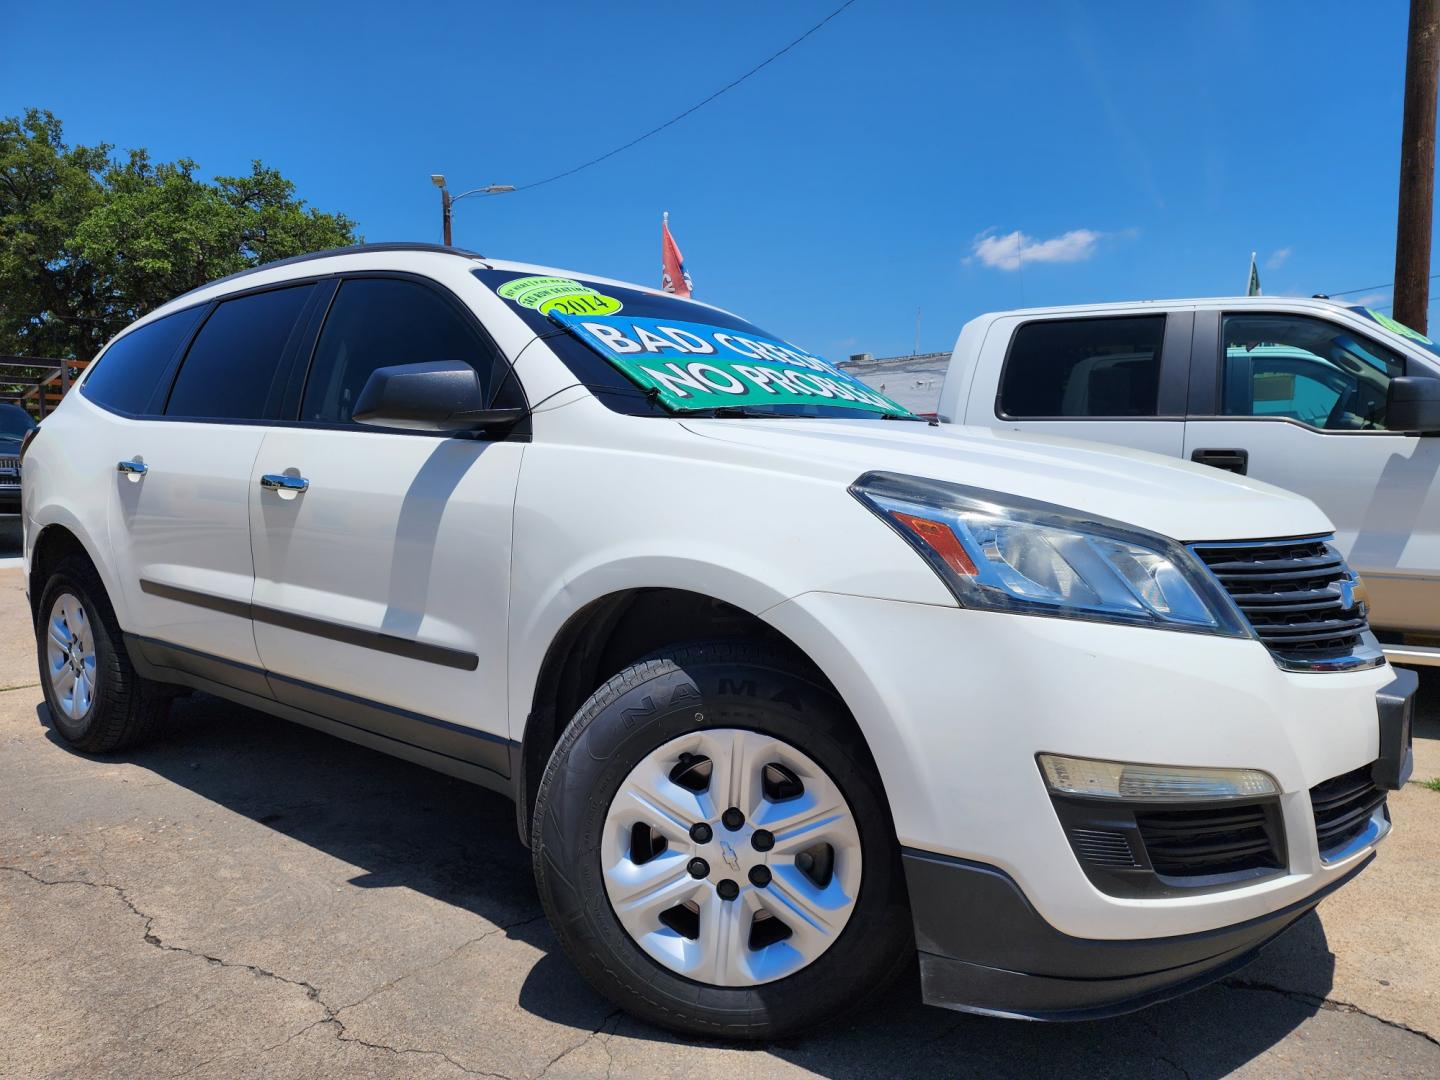
[[[347,275],[300,419],[268,431],[255,461],[255,644],[278,700],[505,776],[524,444],[351,418],[374,369],[428,360],[467,360],[487,386],[508,370],[439,285]]]

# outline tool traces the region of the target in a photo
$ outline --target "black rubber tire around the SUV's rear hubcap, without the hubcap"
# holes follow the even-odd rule
[[[71,593],[85,608],[95,645],[95,690],[89,710],[79,719],[71,719],[60,706],[46,655],[50,612],[63,593]],[[115,609],[89,560],[82,556],[63,559],[45,583],[36,612],[40,688],[56,734],[85,753],[109,753],[150,739],[170,708],[170,696],[158,683],[135,672]]]

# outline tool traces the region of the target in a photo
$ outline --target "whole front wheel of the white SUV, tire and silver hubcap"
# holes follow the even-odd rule
[[[759,645],[674,649],[596,691],[546,769],[533,848],[580,971],[677,1031],[792,1034],[909,962],[870,755],[832,691]]]

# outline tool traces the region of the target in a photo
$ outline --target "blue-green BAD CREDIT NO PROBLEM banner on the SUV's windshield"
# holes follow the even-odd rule
[[[672,412],[828,405],[907,415],[818,356],[770,337],[674,318],[572,315],[560,304],[547,314]]]

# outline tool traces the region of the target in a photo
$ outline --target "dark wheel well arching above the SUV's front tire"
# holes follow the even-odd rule
[[[816,681],[834,691],[815,662],[778,629],[747,611],[701,593],[634,589],[595,600],[570,616],[540,665],[526,719],[516,776],[521,842],[530,844],[530,819],[550,753],[590,694],[641,657],[667,645],[737,638],[785,648]]]

